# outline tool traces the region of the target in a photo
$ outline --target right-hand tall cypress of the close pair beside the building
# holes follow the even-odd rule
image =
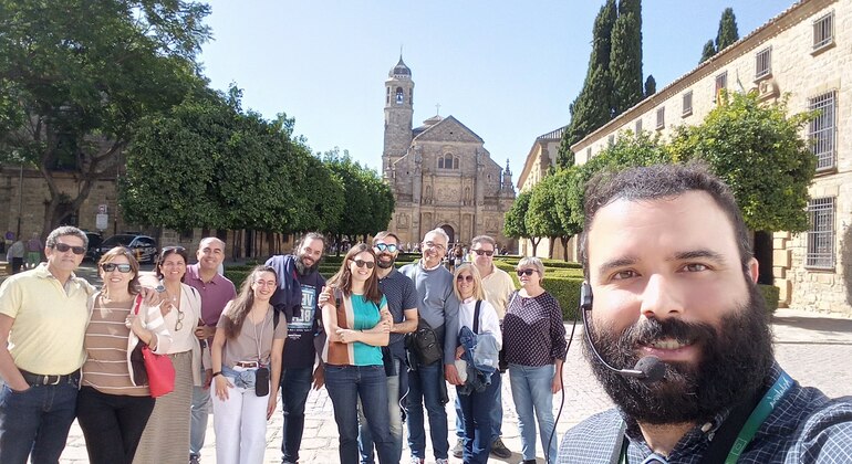
[[[619,17],[612,28],[613,117],[644,97],[642,88],[642,1],[620,0]]]

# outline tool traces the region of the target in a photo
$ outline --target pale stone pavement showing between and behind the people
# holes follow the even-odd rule
[[[571,333],[570,325],[567,325]],[[781,366],[800,383],[822,389],[830,397],[852,394],[852,318],[835,314],[814,314],[796,309],[778,309],[773,317],[776,335],[776,357]],[[578,327],[568,354],[564,368],[564,407],[557,424],[561,436],[569,428],[589,415],[612,405],[612,402],[594,380],[581,349],[582,327]],[[450,389],[450,396],[455,392]],[[491,458],[490,462],[517,463],[521,460],[518,416],[511,401],[508,377],[503,381],[503,441],[515,453],[508,460]],[[554,399],[554,411],[559,410],[562,396]],[[450,446],[455,443],[455,411],[450,401],[447,407],[450,426]],[[212,420],[207,431],[207,444],[202,462],[214,463],[216,437]],[[280,462],[281,411],[269,421],[267,429],[267,463]],[[544,457],[537,444],[539,462]],[[427,455],[430,455],[430,449]],[[403,462],[408,462],[407,446],[403,450]],[[67,446],[62,455],[62,463],[86,462],[85,443],[80,429],[74,423]],[[432,460],[428,460],[429,462]],[[301,463],[337,462],[337,429],[334,422],[331,401],[325,390],[311,391],[308,398],[304,439],[302,441]],[[450,457],[450,462],[460,460]],[[183,464],[183,463],[176,463]]]

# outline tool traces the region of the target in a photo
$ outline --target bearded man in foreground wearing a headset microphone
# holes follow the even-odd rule
[[[559,462],[852,460],[852,399],[775,361],[748,230],[705,166],[599,176],[583,230],[585,354],[617,408],[571,429]]]

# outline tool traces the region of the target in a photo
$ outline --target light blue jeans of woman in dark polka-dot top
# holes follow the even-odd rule
[[[509,382],[512,387],[515,410],[518,412],[518,430],[521,433],[521,453],[524,460],[536,458],[536,421],[539,425],[541,446],[543,450],[550,450],[546,455],[551,462],[557,458],[558,437],[553,436],[551,440],[550,436],[553,434],[553,393],[550,387],[554,369],[553,365],[509,365]]]

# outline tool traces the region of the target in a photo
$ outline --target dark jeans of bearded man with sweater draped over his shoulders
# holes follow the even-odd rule
[[[299,461],[304,432],[304,403],[312,381],[313,367],[281,369],[281,409],[284,413],[281,456],[285,463]]]

